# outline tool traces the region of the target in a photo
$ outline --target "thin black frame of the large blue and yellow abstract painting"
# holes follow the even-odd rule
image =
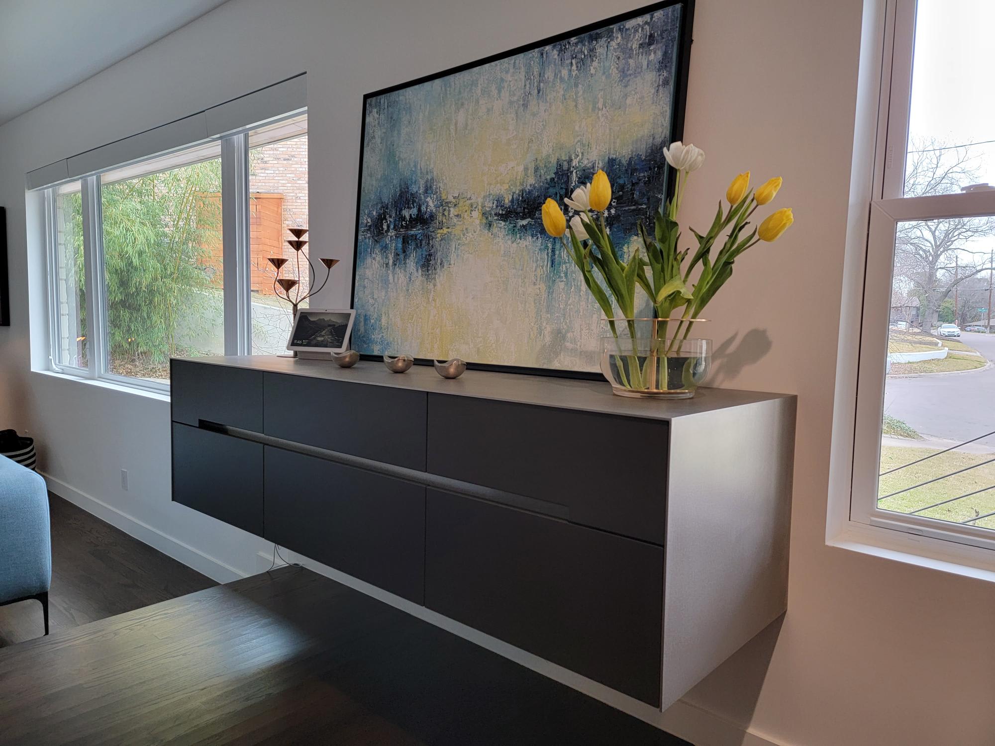
[[[694,21],[695,21],[695,2],[696,0],[661,0],[660,2],[653,3],[651,5],[646,5],[642,8],[637,8],[636,10],[629,11],[627,13],[621,13],[616,16],[611,16],[601,21],[596,21],[594,23],[587,24],[570,31],[565,31],[561,34],[555,36],[547,37],[545,39],[540,39],[536,42],[530,44],[525,44],[520,47],[515,47],[513,49],[507,50],[505,52],[499,52],[495,55],[490,55],[489,57],[481,58],[464,65],[459,65],[454,68],[449,68],[443,70],[439,73],[434,73],[432,75],[422,76],[421,78],[416,78],[405,83],[397,84],[395,86],[390,86],[379,91],[373,91],[370,93],[365,93],[363,95],[362,104],[362,123],[360,126],[359,133],[359,164],[357,170],[356,178],[356,215],[355,215],[355,236],[353,239],[352,247],[352,283],[349,293],[349,305],[352,308],[356,307],[356,268],[357,260],[359,257],[359,239],[360,239],[360,222],[362,218],[361,208],[362,208],[362,178],[363,178],[363,151],[365,149],[366,143],[366,110],[367,101],[370,98],[383,95],[385,93],[394,93],[396,91],[403,91],[404,89],[411,88],[413,86],[418,86],[423,83],[428,83],[430,81],[435,81],[440,78],[446,78],[457,73],[462,73],[467,70],[472,70],[474,68],[481,67],[483,65],[488,65],[500,60],[504,60],[515,55],[520,55],[525,52],[531,52],[532,50],[545,47],[550,44],[556,44],[557,42],[565,41],[571,39],[575,36],[581,36],[583,34],[590,33],[592,31],[598,31],[607,26],[613,26],[618,23],[624,23],[630,21],[634,18],[639,18],[650,13],[655,13],[656,11],[663,10],[665,8],[670,8],[675,5],[683,6],[683,12],[681,14],[681,29],[680,29],[680,39],[678,43],[678,55],[677,55],[677,66],[675,71],[674,80],[676,81],[676,89],[674,92],[674,116],[671,120],[671,132],[670,132],[670,142],[675,142],[681,140],[684,137],[684,124],[685,124],[685,109],[688,102],[688,74],[691,64],[691,47],[694,42],[693,32],[694,32]],[[669,175],[667,177],[667,194],[673,194],[675,186],[676,173],[673,169],[668,169]],[[379,360],[380,355],[370,354],[358,350],[360,353],[360,359],[363,360]],[[433,360],[427,358],[415,358],[416,365],[432,365]],[[503,365],[495,363],[479,363],[474,361],[467,361],[467,368],[469,370],[488,370],[496,371],[502,373],[518,373],[524,375],[538,375],[538,376],[549,376],[553,378],[571,378],[571,379],[581,379],[588,381],[600,381],[604,379],[601,373],[593,371],[576,371],[576,370],[563,370],[554,368],[533,368],[527,366],[519,365]]]

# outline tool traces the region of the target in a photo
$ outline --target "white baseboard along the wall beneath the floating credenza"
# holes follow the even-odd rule
[[[89,513],[93,513],[101,520],[119,528],[124,533],[158,549],[163,554],[172,557],[177,562],[181,562],[187,567],[191,567],[199,573],[218,581],[219,583],[230,583],[240,578],[245,578],[253,572],[260,573],[269,569],[272,564],[272,557],[264,552],[259,552],[256,556],[256,567],[253,572],[244,572],[228,565],[221,560],[211,557],[208,554],[196,549],[189,544],[185,544],[179,539],[163,533],[159,529],[148,525],[144,521],[128,515],[124,511],[108,505],[106,502],[93,495],[82,492],[76,487],[54,476],[40,472],[48,482],[49,489],[73,504],[83,508]],[[514,660],[527,668],[531,668],[538,673],[563,683],[573,689],[577,689],[588,696],[598,699],[606,704],[627,712],[640,720],[644,720],[659,728],[663,728],[670,733],[690,741],[695,746],[790,746],[769,737],[761,736],[751,730],[744,730],[734,723],[703,710],[684,700],[680,700],[665,712],[640,702],[633,697],[622,694],[614,689],[610,689],[604,684],[581,676],[574,671],[563,668],[556,663],[544,660],[532,653],[527,653],[518,648],[514,648],[497,638],[474,630],[448,617],[436,614],[430,609],[419,606],[411,601],[402,599],[382,589],[364,583],[361,580],[345,575],[331,567],[322,565],[309,558],[298,555],[287,550],[283,551],[284,557],[289,562],[300,562],[305,567],[316,573],[338,581],[349,586],[360,593],[371,596],[379,601],[383,601],[390,606],[411,614],[430,624],[440,627],[461,638],[469,640],[493,653]],[[282,565],[278,559],[278,566]]]

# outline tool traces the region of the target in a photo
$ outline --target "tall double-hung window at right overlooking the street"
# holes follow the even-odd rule
[[[995,548],[995,4],[888,10],[851,519]]]

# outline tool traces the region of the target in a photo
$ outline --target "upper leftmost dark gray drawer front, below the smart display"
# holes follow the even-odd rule
[[[170,361],[173,422],[200,420],[263,432],[263,374],[190,360]]]

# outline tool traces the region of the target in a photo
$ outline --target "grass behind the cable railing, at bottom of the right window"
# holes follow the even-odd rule
[[[888,471],[896,466],[910,464],[918,459],[938,453],[935,449],[905,448],[902,446],[883,446],[881,450],[881,470]],[[879,485],[879,496],[891,494],[898,489],[919,484],[928,479],[948,474],[952,471],[982,464],[995,460],[995,454],[962,454],[950,452],[937,456],[928,461],[914,466],[902,468],[895,473],[881,477]],[[957,497],[976,489],[991,487],[986,491],[965,497],[962,500],[949,502],[930,510],[925,510],[917,515],[926,518],[938,518],[961,522],[976,515],[983,515],[995,511],[995,462],[978,466],[969,471],[949,476],[931,484],[909,489],[894,497],[879,500],[878,506],[885,510],[896,510],[901,513],[908,513],[926,505],[931,505],[940,500],[950,497]],[[989,518],[982,518],[971,525],[984,528],[995,528],[995,515]]]

